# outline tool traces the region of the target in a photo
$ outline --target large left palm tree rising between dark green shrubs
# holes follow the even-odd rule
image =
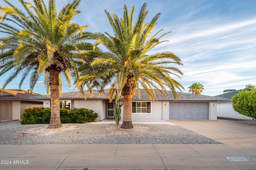
[[[72,23],[80,13],[80,0],[64,5],[57,14],[54,0],[33,0],[34,4],[19,0],[24,11],[16,8],[7,0],[9,6],[0,7],[0,76],[12,71],[4,82],[3,89],[14,78],[21,75],[19,88],[30,77],[30,89],[44,76],[46,89],[51,94],[51,118],[49,128],[58,128],[60,122],[61,75],[68,85],[71,78],[78,78],[77,63],[81,53],[93,49],[85,41],[91,33],[83,32],[86,25]],[[4,90],[2,90],[4,91]]]

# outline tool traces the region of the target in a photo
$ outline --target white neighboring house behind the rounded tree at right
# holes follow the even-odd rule
[[[232,90],[224,90],[223,94],[215,96],[215,97],[229,99],[226,101],[218,101],[217,102],[218,103],[218,110],[217,110],[218,117],[232,118],[232,119],[248,119],[248,120],[252,119],[252,117],[242,115],[242,114],[234,111],[234,109],[233,109],[231,98],[233,96],[235,96],[240,91],[242,91],[242,90],[233,90],[233,89]]]

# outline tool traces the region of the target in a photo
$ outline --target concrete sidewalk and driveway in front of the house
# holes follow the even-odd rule
[[[227,121],[170,122],[223,144],[0,145],[0,170],[256,169],[255,126]]]

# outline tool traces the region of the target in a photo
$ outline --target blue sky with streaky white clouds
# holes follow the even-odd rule
[[[16,0],[11,2],[18,4]],[[71,0],[56,0],[58,10],[68,2]],[[180,57],[183,66],[178,68],[184,75],[176,80],[184,86],[183,92],[188,92],[194,82],[203,84],[202,95],[208,96],[256,85],[256,0],[82,0],[78,8],[81,13],[73,22],[88,25],[85,31],[112,34],[104,10],[121,17],[124,4],[129,10],[134,5],[135,21],[144,2],[149,10],[146,21],[161,12],[154,31],[172,31],[162,39],[168,42],[152,53],[171,51]],[[0,5],[6,3],[0,0]],[[5,78],[1,77],[0,88]],[[28,81],[22,89],[29,88]],[[19,78],[14,79],[6,89],[17,89],[19,82]],[[63,92],[73,91],[74,86],[63,84]],[[46,94],[43,81],[33,92]]]

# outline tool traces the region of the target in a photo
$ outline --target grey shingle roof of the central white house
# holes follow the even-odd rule
[[[84,91],[86,94],[87,99],[108,99],[108,92],[109,90],[106,89],[104,94],[99,94],[98,90],[93,90],[93,96],[91,97],[88,91]],[[165,98],[160,92],[156,91],[156,97],[158,100],[174,100],[171,91],[164,92],[167,98]],[[208,101],[220,101],[220,100],[229,100],[226,98],[220,98],[220,97],[215,97],[215,96],[205,96],[205,95],[198,95],[198,94],[189,94],[189,93],[182,93],[178,92],[179,100],[208,100]],[[36,96],[33,98],[37,99],[50,99],[50,96]],[[84,96],[79,92],[66,92],[62,93],[60,96],[60,99],[84,99]],[[138,96],[138,90],[136,90],[135,95],[132,96],[133,100],[149,100],[148,94],[145,92],[145,90],[140,89],[140,98]]]

